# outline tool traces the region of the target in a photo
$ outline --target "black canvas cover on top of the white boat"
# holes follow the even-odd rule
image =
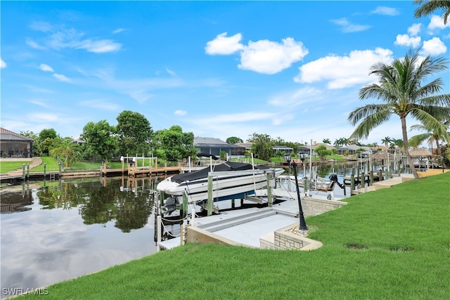
[[[217,164],[212,167],[212,171],[214,172],[224,172],[224,171],[243,171],[243,170],[251,170],[251,164],[245,164],[244,162],[224,162],[222,164]],[[258,170],[269,169],[266,166],[255,167]],[[179,174],[172,176],[172,182],[182,183],[184,181],[193,181],[200,178],[207,178],[208,173],[210,172],[210,167],[205,167],[205,169],[201,169],[198,171],[194,171],[191,173]]]

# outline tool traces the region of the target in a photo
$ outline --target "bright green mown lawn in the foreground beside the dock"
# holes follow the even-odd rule
[[[448,299],[449,182],[407,181],[307,218],[323,242],[311,252],[188,244],[51,285],[44,299]]]

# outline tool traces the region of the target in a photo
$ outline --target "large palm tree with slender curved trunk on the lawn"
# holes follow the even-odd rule
[[[359,90],[359,98],[374,97],[383,101],[381,104],[369,104],[350,112],[348,120],[356,129],[352,138],[367,138],[372,129],[387,122],[392,115],[398,115],[404,150],[414,178],[418,174],[409,153],[406,117],[411,116],[430,128],[444,131],[439,119],[450,115],[450,94],[434,95],[442,90],[442,79],[434,79],[421,85],[429,75],[447,68],[444,57],[427,56],[420,58],[419,52],[410,51],[403,59],[396,59],[390,65],[376,63],[370,74],[378,76],[378,84],[368,84]]]

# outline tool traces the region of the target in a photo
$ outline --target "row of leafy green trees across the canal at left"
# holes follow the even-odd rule
[[[80,143],[70,137],[60,137],[55,129],[20,134],[34,140],[33,155],[58,157],[65,167],[82,160],[110,162],[120,156],[135,155],[177,161],[197,153],[193,133],[183,132],[181,126],[153,131],[144,115],[130,110],[120,112],[116,119],[117,125],[106,120],[88,122],[83,127]]]

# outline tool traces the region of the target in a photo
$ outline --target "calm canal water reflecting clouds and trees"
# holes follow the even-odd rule
[[[358,167],[329,163],[314,172],[324,178],[338,174],[342,183]],[[303,170],[308,173],[309,166],[299,166],[300,176]],[[11,296],[6,291],[45,287],[157,252],[157,183],[158,178],[85,178],[24,183],[1,193],[1,298]],[[344,191],[336,187],[334,195],[342,198]]]

